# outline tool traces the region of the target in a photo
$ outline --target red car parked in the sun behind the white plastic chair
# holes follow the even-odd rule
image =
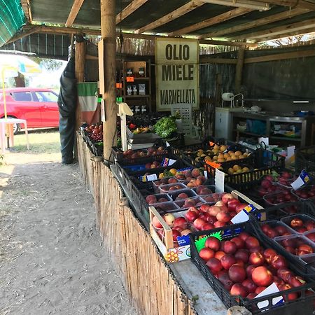
[[[59,126],[58,95],[52,90],[33,87],[6,89],[6,112],[8,118],[27,120],[28,128]],[[0,118],[4,118],[3,93],[0,90]],[[15,124],[17,134],[20,125]]]

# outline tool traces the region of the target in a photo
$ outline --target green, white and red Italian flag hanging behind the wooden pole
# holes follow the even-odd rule
[[[97,82],[77,83],[78,106],[80,106],[81,123],[92,125],[98,123]]]

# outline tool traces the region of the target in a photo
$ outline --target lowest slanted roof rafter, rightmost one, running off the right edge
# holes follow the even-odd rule
[[[281,27],[274,27],[272,29],[265,29],[263,31],[255,31],[253,33],[247,33],[247,34],[242,34],[239,36],[233,36],[231,39],[244,39],[244,38],[251,38],[258,40],[259,38],[265,38],[268,35],[269,36],[278,36],[281,37],[281,34],[286,34],[290,31],[300,31],[300,34],[303,34],[305,29],[311,29],[314,27],[315,31],[315,19],[311,20],[306,20],[302,22],[297,22],[297,23],[291,23],[288,25],[283,25]],[[282,36],[283,37],[283,36]]]

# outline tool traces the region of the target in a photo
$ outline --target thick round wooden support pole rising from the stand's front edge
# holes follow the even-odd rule
[[[101,0],[101,35],[104,39],[105,123],[104,160],[111,157],[111,146],[116,146],[116,0]]]

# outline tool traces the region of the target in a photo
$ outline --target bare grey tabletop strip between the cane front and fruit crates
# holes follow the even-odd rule
[[[132,207],[132,197],[127,190],[127,187],[120,180],[116,165],[111,165],[111,172],[116,176],[121,188],[123,188],[125,196],[130,202],[130,207]],[[134,209],[134,211],[137,211],[137,209]],[[138,211],[137,216],[141,216]],[[144,217],[140,217],[139,219],[141,221],[145,220]],[[186,295],[188,295],[190,299],[198,297],[195,305],[198,315],[209,315],[209,309],[211,309],[211,315],[226,314],[227,309],[223,302],[218,299],[214,290],[209,286],[209,283],[204,279],[204,276],[202,276],[191,260],[169,264],[169,268],[174,273]]]

